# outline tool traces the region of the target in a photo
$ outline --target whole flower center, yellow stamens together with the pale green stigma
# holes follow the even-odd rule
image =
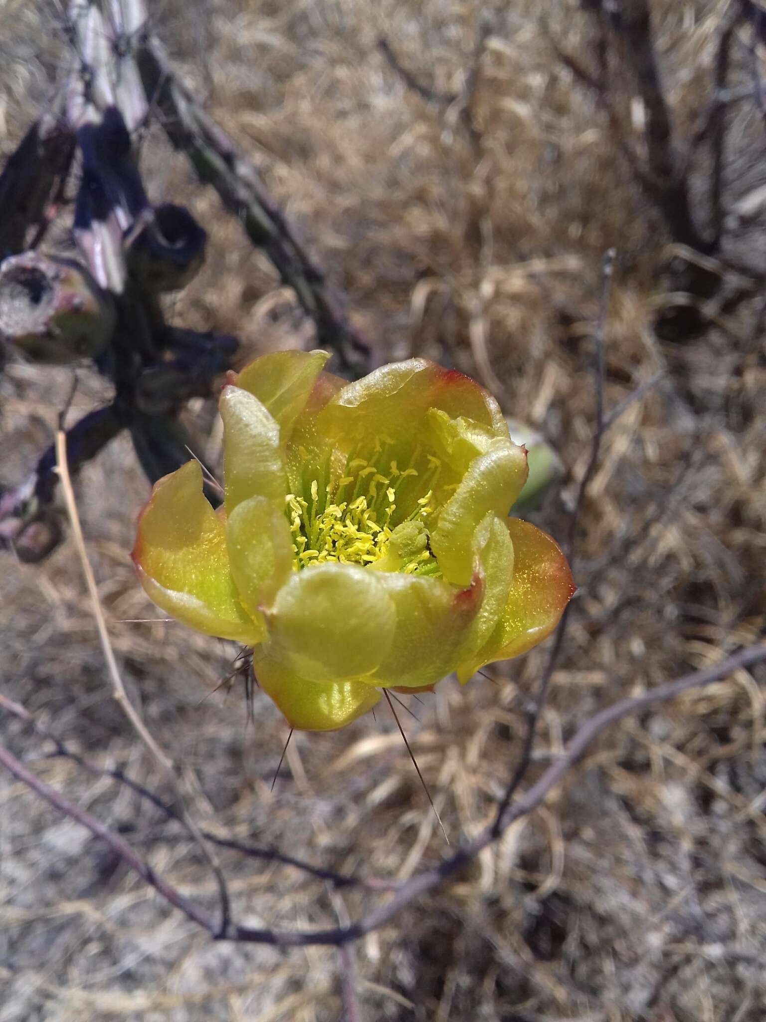
[[[390,445],[376,443],[372,458],[348,457],[342,475],[327,482],[329,460],[321,471],[288,494],[287,519],[297,569],[326,561],[409,574],[439,574],[429,547],[427,522],[434,511],[434,486],[441,471],[438,458],[419,458],[426,468],[399,469],[386,458]],[[337,473],[336,473],[337,474]],[[421,493],[423,496],[418,497]]]

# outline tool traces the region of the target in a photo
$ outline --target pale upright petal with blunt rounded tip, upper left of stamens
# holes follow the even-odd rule
[[[287,473],[276,419],[257,398],[232,384],[224,387],[219,409],[224,420],[227,513],[248,497],[284,503]]]

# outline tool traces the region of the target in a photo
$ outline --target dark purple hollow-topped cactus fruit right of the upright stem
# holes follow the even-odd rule
[[[183,205],[166,202],[133,241],[128,260],[140,283],[154,291],[177,291],[194,278],[205,257],[207,234]]]

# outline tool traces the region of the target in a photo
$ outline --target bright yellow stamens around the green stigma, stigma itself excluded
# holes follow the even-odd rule
[[[304,485],[302,496],[288,494],[286,511],[296,569],[326,561],[372,564],[385,557],[396,525],[402,521],[424,522],[433,512],[433,484],[440,472],[439,460],[428,456],[428,471],[422,484],[431,486],[414,502],[415,509],[402,517],[396,514],[397,491],[406,480],[419,476],[419,472],[413,467],[400,470],[393,460],[387,474],[383,474],[378,464],[385,453],[377,444],[374,452],[377,464],[361,457],[349,458],[336,482],[321,486],[315,478],[307,487]],[[438,570],[438,564],[426,546],[409,557],[401,570],[431,574]]]

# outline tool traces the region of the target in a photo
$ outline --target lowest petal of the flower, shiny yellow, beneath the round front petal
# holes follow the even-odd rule
[[[377,689],[352,679],[326,685],[307,682],[262,649],[255,650],[252,668],[260,688],[298,731],[345,728],[380,699]]]

